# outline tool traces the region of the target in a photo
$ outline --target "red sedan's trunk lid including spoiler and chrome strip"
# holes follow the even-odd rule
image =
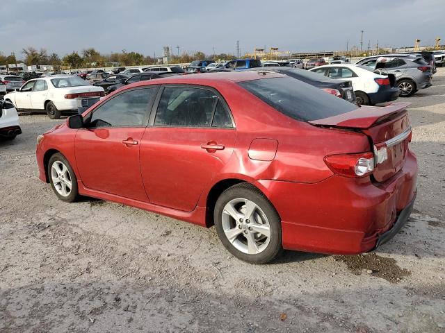
[[[383,182],[394,176],[405,162],[411,137],[410,120],[405,110],[410,103],[386,107],[362,106],[338,116],[309,121],[316,126],[357,130],[369,137],[375,168],[373,177]]]

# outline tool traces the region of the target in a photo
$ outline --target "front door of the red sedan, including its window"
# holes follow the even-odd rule
[[[143,137],[158,87],[129,89],[85,118],[74,140],[76,164],[89,189],[147,202],[139,167]]]

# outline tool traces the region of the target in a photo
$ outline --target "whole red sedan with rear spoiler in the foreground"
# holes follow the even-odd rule
[[[264,72],[127,85],[38,137],[58,198],[112,200],[205,227],[236,257],[357,254],[410,216],[417,162],[405,108],[357,108]]]

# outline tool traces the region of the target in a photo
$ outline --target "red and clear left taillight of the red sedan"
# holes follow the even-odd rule
[[[332,172],[347,178],[362,178],[374,171],[374,154],[327,155],[325,163]]]

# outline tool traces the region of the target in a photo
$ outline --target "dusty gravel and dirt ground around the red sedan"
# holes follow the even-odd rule
[[[445,69],[410,101],[414,214],[376,253],[252,266],[209,230],[38,180],[20,117],[0,143],[0,332],[445,332]]]

